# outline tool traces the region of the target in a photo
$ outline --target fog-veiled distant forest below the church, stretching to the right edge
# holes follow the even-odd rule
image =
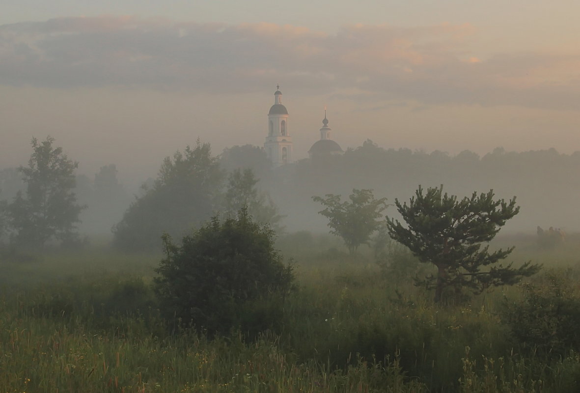
[[[502,148],[480,157],[463,151],[445,152],[385,149],[367,140],[343,155],[303,160],[281,171],[272,184],[264,184],[282,213],[289,230],[322,231],[325,221],[316,214],[311,196],[347,195],[353,188],[372,189],[389,199],[407,199],[418,185],[438,187],[458,196],[493,189],[500,198],[517,196],[521,212],[506,225],[508,232],[535,234],[536,226],[578,230],[580,215],[580,152],[559,154],[554,149],[506,152]],[[292,212],[292,214],[289,214]],[[398,217],[394,209],[388,216]]]

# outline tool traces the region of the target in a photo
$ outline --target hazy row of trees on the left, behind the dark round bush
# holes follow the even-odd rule
[[[90,182],[75,176],[78,162],[54,142],[32,139],[28,165],[2,171],[0,185],[12,195],[0,205],[0,236],[17,248],[82,245],[82,219],[112,231],[115,248],[143,252],[160,251],[163,234],[180,238],[213,214],[229,217],[244,206],[257,222],[273,228],[282,218],[258,188],[255,173],[267,176],[269,166],[260,148],[234,147],[217,157],[198,140],[166,157],[157,178],[146,181],[129,202],[115,165],[103,166]]]

